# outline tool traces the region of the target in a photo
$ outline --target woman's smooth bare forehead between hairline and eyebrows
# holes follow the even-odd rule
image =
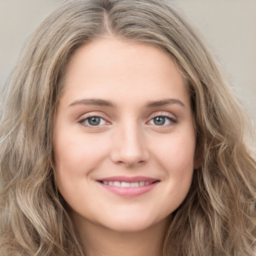
[[[130,101],[181,97],[186,82],[174,61],[159,48],[130,41],[101,39],[79,47],[65,68],[62,100],[79,97]]]

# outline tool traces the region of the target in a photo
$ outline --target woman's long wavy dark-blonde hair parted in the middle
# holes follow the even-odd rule
[[[69,56],[109,37],[163,50],[190,93],[200,167],[163,255],[255,255],[251,119],[198,30],[165,0],[66,0],[30,36],[2,95],[0,255],[85,255],[55,185],[54,119]]]

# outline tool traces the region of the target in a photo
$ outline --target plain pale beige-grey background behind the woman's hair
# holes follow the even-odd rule
[[[0,84],[26,37],[61,0],[0,0]],[[256,0],[175,0],[213,44],[256,119]]]

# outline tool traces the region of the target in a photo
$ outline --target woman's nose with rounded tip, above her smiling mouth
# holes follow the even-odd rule
[[[113,137],[111,160],[126,166],[138,166],[148,161],[149,153],[142,131],[136,125],[123,125]]]

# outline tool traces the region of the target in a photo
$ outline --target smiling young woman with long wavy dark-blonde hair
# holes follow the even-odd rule
[[[1,122],[1,255],[255,255],[250,121],[165,1],[67,0]]]

